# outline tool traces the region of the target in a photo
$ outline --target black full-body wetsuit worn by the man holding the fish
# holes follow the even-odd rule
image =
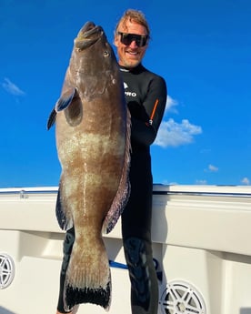
[[[122,234],[126,264],[131,280],[132,314],[156,314],[158,284],[151,241],[152,191],[150,145],[166,106],[166,82],[142,65],[121,67],[127,106],[131,113],[131,194],[122,214]],[[74,228],[67,230],[61,269],[57,309],[65,313],[63,289],[65,271],[75,240]]]

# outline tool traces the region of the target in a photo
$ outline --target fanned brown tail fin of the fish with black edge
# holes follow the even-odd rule
[[[82,247],[82,246],[81,246]],[[108,310],[111,303],[111,273],[105,245],[87,252],[75,242],[65,276],[65,310],[81,303],[93,303]]]

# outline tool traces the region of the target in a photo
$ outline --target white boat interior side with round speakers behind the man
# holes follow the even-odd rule
[[[0,188],[0,314],[55,313],[64,232],[58,187]],[[129,314],[120,221],[104,235],[110,314]],[[251,313],[251,187],[154,185],[158,314]],[[81,304],[79,314],[105,313]]]

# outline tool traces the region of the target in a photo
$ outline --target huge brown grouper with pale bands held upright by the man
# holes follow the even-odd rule
[[[75,228],[65,274],[65,310],[109,308],[111,278],[102,232],[129,195],[130,116],[115,54],[101,26],[87,22],[74,41],[59,100],[49,116],[62,173],[56,202],[61,228]]]

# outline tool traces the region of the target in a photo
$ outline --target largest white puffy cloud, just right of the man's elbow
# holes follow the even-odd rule
[[[202,128],[192,125],[187,119],[179,124],[170,118],[161,123],[154,144],[160,147],[178,147],[192,143],[194,136],[201,133]]]

